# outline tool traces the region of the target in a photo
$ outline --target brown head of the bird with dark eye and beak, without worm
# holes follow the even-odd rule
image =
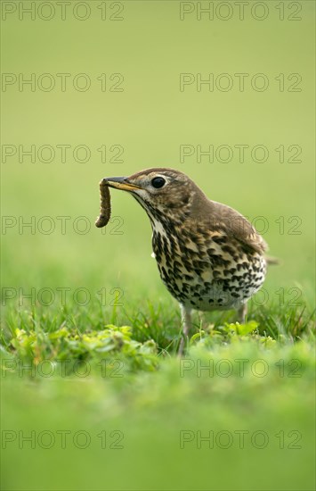
[[[131,193],[153,221],[168,218],[182,221],[190,215],[197,195],[204,196],[188,176],[174,169],[146,169],[128,178],[105,178],[103,181],[109,187]]]

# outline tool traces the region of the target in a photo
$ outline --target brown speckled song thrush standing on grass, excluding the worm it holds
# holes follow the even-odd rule
[[[236,309],[244,320],[247,300],[262,286],[267,262],[267,245],[246,218],[209,200],[174,169],[146,169],[102,182],[128,191],[147,212],[160,277],[181,306],[183,337],[193,309]]]

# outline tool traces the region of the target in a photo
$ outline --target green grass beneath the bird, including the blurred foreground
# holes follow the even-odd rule
[[[230,323],[230,312],[214,322],[196,316],[182,359],[179,315],[167,301],[129,313],[97,302],[8,310],[4,488],[312,489],[315,357],[306,308],[252,308],[245,325]]]

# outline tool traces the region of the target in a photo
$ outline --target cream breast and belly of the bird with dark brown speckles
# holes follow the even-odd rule
[[[152,246],[160,277],[181,304],[200,311],[237,309],[262,286],[262,254],[219,232],[168,232],[153,229]]]

